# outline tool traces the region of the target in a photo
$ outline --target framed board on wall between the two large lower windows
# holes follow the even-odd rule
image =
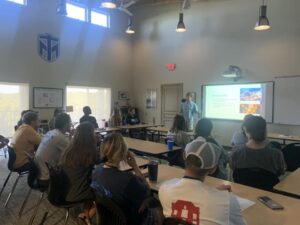
[[[62,108],[64,90],[62,88],[33,88],[33,108]]]

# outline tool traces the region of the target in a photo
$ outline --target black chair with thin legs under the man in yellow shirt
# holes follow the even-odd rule
[[[13,149],[12,147],[7,146],[7,148],[8,148],[8,162],[7,162],[7,168],[9,169],[9,174],[8,174],[8,176],[6,177],[6,179],[5,179],[4,183],[3,183],[3,186],[2,186],[2,188],[1,188],[1,191],[0,191],[0,197],[1,197],[1,195],[2,195],[2,193],[3,193],[3,191],[4,191],[4,189],[5,189],[5,187],[6,187],[6,185],[7,185],[7,182],[8,182],[8,180],[9,180],[11,174],[14,173],[14,172],[15,172],[15,173],[18,173],[18,177],[17,177],[17,179],[15,180],[15,183],[13,184],[13,187],[12,187],[10,193],[8,194],[8,197],[7,197],[6,201],[5,201],[4,207],[6,207],[6,206],[8,205],[8,202],[9,202],[11,196],[13,195],[13,193],[14,193],[14,191],[15,191],[15,189],[16,189],[16,186],[17,186],[17,184],[18,184],[18,182],[19,182],[19,179],[20,179],[21,177],[23,177],[23,176],[25,176],[25,175],[27,175],[27,174],[29,173],[29,171],[22,171],[22,170],[20,170],[20,169],[15,169],[15,168],[14,168],[14,163],[15,163],[15,161],[16,161],[16,153],[15,153],[15,151],[14,151],[14,149]]]

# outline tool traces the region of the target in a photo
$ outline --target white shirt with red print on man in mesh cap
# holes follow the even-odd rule
[[[190,178],[173,179],[159,189],[165,217],[194,225],[246,224],[235,196]]]

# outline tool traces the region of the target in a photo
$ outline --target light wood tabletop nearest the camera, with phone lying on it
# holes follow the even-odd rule
[[[149,182],[153,190],[158,190],[159,186],[165,181],[172,178],[183,176],[184,170],[170,167],[168,165],[159,165],[158,181]],[[232,192],[242,198],[255,202],[255,205],[243,211],[243,217],[248,225],[297,225],[299,224],[300,200],[290,198],[284,195],[275,194],[260,189],[248,187],[241,184],[231,183],[229,181],[207,177],[204,183],[212,187],[221,184],[230,184]],[[279,204],[283,205],[283,210],[271,210],[260,203],[259,196],[268,196]]]

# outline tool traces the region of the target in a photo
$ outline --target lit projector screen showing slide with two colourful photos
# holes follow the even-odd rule
[[[203,117],[243,120],[247,114],[273,122],[273,82],[203,85]]]

